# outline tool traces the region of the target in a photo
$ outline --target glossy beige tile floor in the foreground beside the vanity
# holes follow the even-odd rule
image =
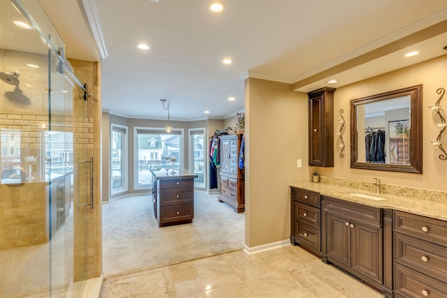
[[[291,245],[252,255],[235,251],[140,271],[133,276],[107,278],[102,297],[379,298],[383,295]]]

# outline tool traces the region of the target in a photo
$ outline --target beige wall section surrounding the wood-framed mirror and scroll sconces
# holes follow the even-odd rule
[[[345,157],[339,158],[337,154],[338,149],[335,148],[334,167],[314,169],[321,172],[321,174],[334,177],[367,181],[372,181],[372,177],[376,177],[381,179],[381,182],[384,184],[447,191],[447,184],[445,183],[447,161],[441,161],[438,158],[441,151],[435,150],[432,144],[430,144],[430,141],[436,140],[439,131],[434,125],[432,111],[429,109],[429,106],[434,105],[439,97],[436,94],[437,89],[439,87],[447,87],[445,80],[446,70],[447,55],[339,88],[334,94],[334,121],[339,119],[337,116],[340,109],[344,110],[344,117],[346,120],[349,120],[350,101],[353,99],[423,84],[423,174],[351,169],[349,125],[343,133],[343,139],[346,142]],[[442,104],[443,102],[441,101]],[[444,99],[444,107],[446,105],[447,102]],[[337,123],[334,124],[334,127],[338,127]],[[447,140],[447,135],[444,134],[443,140],[444,142]]]

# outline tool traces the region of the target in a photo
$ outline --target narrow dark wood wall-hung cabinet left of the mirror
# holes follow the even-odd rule
[[[309,165],[334,166],[334,91],[325,87],[309,96]]]

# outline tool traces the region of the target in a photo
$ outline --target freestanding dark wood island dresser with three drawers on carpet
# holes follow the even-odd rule
[[[154,215],[159,227],[192,223],[194,218],[194,178],[186,170],[172,174],[169,170],[153,171]]]

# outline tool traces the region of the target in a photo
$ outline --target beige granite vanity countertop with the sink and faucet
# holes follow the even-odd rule
[[[290,184],[290,186],[303,188],[307,191],[315,191],[321,195],[327,195],[332,198],[338,198],[349,202],[356,202],[358,204],[365,204],[383,209],[395,209],[447,221],[447,195],[445,192],[434,191],[434,193],[430,194],[430,191],[427,190],[406,188],[406,191],[395,192],[403,193],[403,195],[395,195],[394,193],[381,193],[377,195],[373,191],[367,191],[363,188],[321,182],[293,183]],[[413,192],[411,191],[412,189],[414,190]],[[384,198],[385,200],[360,198],[351,195],[353,193],[372,195],[374,197]]]

